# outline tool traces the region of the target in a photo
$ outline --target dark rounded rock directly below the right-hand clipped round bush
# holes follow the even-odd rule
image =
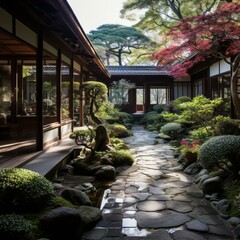
[[[209,178],[202,184],[204,194],[219,193],[222,191],[222,182],[219,176]]]

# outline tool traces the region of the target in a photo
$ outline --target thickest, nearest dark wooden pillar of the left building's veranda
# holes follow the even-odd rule
[[[36,139],[36,149],[43,149],[43,38],[42,34],[38,35],[38,49],[37,49],[37,86],[36,86],[36,114],[37,114],[37,139]]]

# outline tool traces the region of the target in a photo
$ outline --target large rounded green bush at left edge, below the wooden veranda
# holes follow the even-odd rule
[[[40,174],[22,168],[0,169],[0,211],[39,209],[53,196],[53,186]]]

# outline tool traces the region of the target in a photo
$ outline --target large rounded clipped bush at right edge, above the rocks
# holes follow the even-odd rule
[[[240,161],[238,153],[240,151],[240,136],[222,135],[209,139],[199,149],[198,158],[204,167],[212,169],[228,160],[231,163],[231,170],[235,177],[239,175]],[[224,165],[225,167],[228,164]]]

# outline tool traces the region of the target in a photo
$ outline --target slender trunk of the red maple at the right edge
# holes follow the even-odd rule
[[[231,74],[231,95],[233,100],[233,105],[235,109],[235,114],[237,118],[240,117],[240,99],[238,97],[238,70],[240,64],[240,54],[238,54],[232,63],[232,74]]]

